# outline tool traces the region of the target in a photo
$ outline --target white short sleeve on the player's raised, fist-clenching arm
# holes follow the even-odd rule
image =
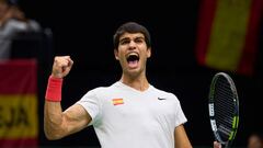
[[[77,103],[84,107],[84,110],[90,114],[92,121],[89,125],[93,125],[99,121],[101,103],[96,95],[96,90],[91,90],[85,93]]]

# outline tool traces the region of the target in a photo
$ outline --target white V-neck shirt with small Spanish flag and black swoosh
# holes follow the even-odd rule
[[[174,148],[174,128],[186,122],[178,98],[150,86],[122,82],[89,91],[80,101],[102,148]]]

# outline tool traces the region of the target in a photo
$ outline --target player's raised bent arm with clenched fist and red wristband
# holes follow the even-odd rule
[[[61,86],[73,61],[69,56],[55,57],[53,71],[48,79],[45,107],[44,107],[44,132],[48,139],[60,139],[87,127],[91,116],[78,104],[73,104],[62,112]]]

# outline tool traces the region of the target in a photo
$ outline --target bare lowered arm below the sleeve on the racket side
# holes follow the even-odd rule
[[[175,148],[192,148],[183,125],[175,127],[174,141]]]

